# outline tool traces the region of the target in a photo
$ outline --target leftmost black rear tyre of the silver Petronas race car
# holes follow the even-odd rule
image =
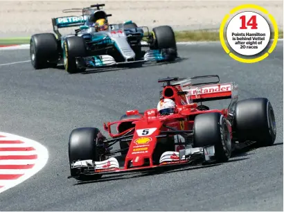
[[[35,34],[30,37],[30,62],[34,69],[56,67],[59,53],[53,33]]]

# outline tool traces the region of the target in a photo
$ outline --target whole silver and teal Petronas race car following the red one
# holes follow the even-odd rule
[[[112,16],[100,10],[105,4],[62,12],[82,12],[79,17],[52,19],[53,33],[35,34],[30,38],[30,59],[35,69],[56,67],[64,63],[68,73],[87,68],[109,67],[118,64],[166,62],[177,58],[175,33],[170,26],[158,26],[149,31],[132,21],[108,24],[106,30],[96,30],[96,21]],[[61,35],[59,28],[78,26],[75,33]],[[142,51],[148,47],[148,51]]]

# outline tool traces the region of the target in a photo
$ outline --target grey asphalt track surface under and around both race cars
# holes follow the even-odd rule
[[[179,46],[181,62],[69,75],[0,66],[0,128],[39,141],[48,164],[1,193],[1,211],[283,211],[283,42],[266,60],[242,64],[220,44]],[[0,51],[0,64],[29,60],[28,50]],[[115,121],[128,109],[159,101],[158,78],[219,74],[235,81],[240,99],[267,97],[276,113],[276,144],[241,152],[226,164],[159,175],[116,175],[76,184],[67,179],[68,139],[75,127]],[[226,106],[214,103],[215,107]]]

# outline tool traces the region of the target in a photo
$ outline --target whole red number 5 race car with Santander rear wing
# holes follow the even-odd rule
[[[274,143],[276,122],[267,98],[238,101],[238,86],[220,83],[219,76],[166,78],[159,82],[164,83],[161,99],[173,100],[175,112],[161,115],[157,109],[127,111],[120,121],[104,123],[111,139],[95,127],[73,130],[69,138],[70,177],[100,179],[110,173],[225,162],[238,147]],[[202,105],[228,98],[231,103],[226,109]],[[120,150],[112,151],[117,142]],[[118,152],[122,161],[114,156]]]

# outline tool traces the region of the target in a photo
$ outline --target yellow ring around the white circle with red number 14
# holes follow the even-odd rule
[[[237,55],[231,53],[229,51],[229,48],[227,47],[226,43],[225,43],[225,39],[224,39],[224,28],[225,25],[230,17],[230,15],[232,15],[233,13],[237,12],[238,10],[244,10],[244,9],[255,9],[258,10],[260,12],[263,12],[264,14],[268,15],[269,20],[272,23],[272,26],[274,28],[274,41],[272,42],[272,46],[270,46],[269,50],[264,53],[263,55],[261,55],[258,58],[254,58],[254,59],[245,59],[245,58],[240,58]],[[276,47],[277,41],[278,41],[278,26],[277,23],[274,19],[274,17],[269,14],[269,12],[267,10],[265,10],[265,8],[254,5],[254,4],[243,4],[240,6],[237,6],[236,8],[233,8],[229,14],[225,15],[224,19],[222,20],[221,26],[220,26],[220,42],[222,47],[224,48],[224,51],[230,55],[231,58],[233,58],[234,60],[237,60],[238,62],[244,62],[244,63],[254,63],[254,62],[260,62],[261,60],[264,60],[265,58],[267,58],[269,56],[269,54],[272,53],[272,51],[274,51],[274,48]]]

